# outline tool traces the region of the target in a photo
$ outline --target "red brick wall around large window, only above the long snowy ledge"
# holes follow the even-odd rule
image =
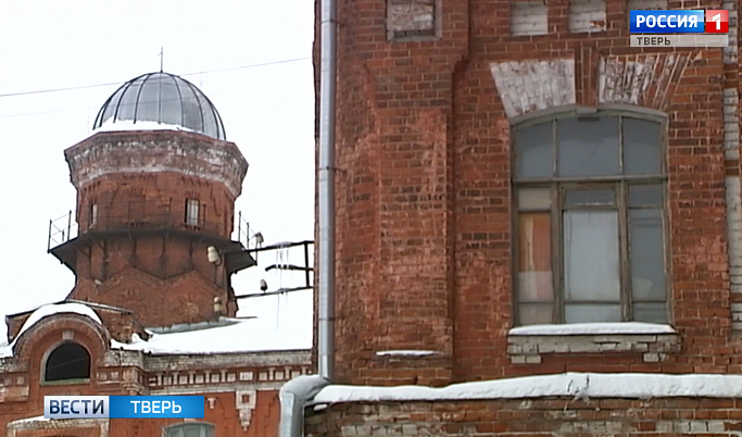
[[[587,367],[741,372],[731,308],[739,320],[742,295],[730,297],[725,199],[725,177],[739,173],[739,160],[725,161],[722,148],[725,89],[740,86],[739,65],[725,57],[739,45],[734,53],[631,49],[625,0],[549,1],[545,32],[538,20],[524,21],[520,11],[535,7],[527,1],[443,1],[440,35],[389,40],[389,13],[401,3],[338,4],[338,382],[436,385]],[[668,8],[721,4],[671,0]],[[627,351],[513,363],[511,123],[562,105],[605,104],[668,120],[669,299],[679,352],[657,362]],[[739,108],[726,111],[727,125],[739,124]],[[391,366],[376,354],[395,349],[438,355]]]

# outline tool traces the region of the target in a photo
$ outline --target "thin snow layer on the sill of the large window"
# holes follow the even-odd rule
[[[669,325],[654,323],[571,323],[564,325],[530,325],[510,330],[508,335],[615,335],[615,334],[675,334]]]

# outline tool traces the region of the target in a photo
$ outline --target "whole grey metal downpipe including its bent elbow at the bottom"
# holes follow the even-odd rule
[[[335,371],[335,88],[336,2],[322,0],[319,76],[318,326],[319,375],[300,376],[280,390],[280,437],[303,435],[304,404],[330,384]]]

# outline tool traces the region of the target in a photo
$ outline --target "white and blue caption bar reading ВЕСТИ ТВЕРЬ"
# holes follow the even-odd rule
[[[203,396],[45,396],[46,419],[203,419]]]

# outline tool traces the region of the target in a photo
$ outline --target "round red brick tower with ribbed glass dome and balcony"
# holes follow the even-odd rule
[[[248,163],[211,101],[178,76],[146,74],[108,99],[93,129],[64,152],[78,236],[50,252],[76,275],[67,298],[129,309],[146,326],[210,319],[215,298],[234,316],[229,277],[254,264],[229,253]]]

